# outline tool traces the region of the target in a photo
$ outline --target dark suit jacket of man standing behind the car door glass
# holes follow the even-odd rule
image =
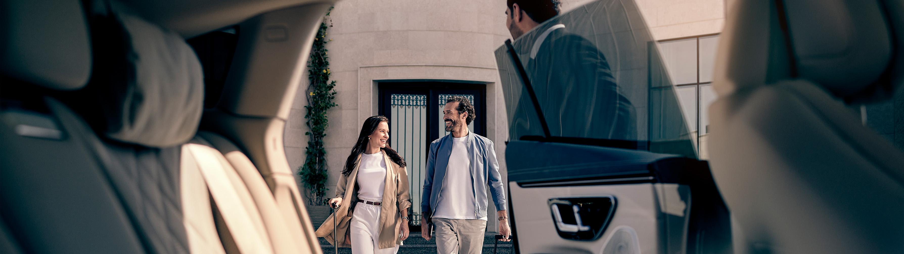
[[[634,106],[620,93],[606,56],[567,29],[553,30],[537,42],[542,43],[540,51],[527,60],[551,135],[636,140]]]

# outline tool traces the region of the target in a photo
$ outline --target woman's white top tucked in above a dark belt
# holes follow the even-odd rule
[[[383,159],[383,151],[372,155],[361,154],[356,181],[359,199],[383,200],[383,187],[386,186],[386,160]]]

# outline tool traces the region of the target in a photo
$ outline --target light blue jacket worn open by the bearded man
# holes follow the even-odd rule
[[[487,197],[486,189],[490,189],[496,211],[506,210],[505,188],[503,179],[499,174],[499,163],[496,161],[496,151],[493,141],[474,133],[467,134],[467,156],[471,160],[471,183],[474,184],[473,193],[461,193],[467,195],[474,202],[476,218],[486,216]],[[421,195],[421,211],[427,218],[433,215],[433,209],[439,203],[439,193],[443,189],[443,178],[446,177],[446,168],[449,155],[452,154],[452,134],[443,136],[430,143],[430,154],[427,157],[427,174],[424,177],[424,191]],[[434,191],[436,190],[436,191]],[[429,221],[429,220],[428,220]]]

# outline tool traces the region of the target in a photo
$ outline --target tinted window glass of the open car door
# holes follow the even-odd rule
[[[512,47],[550,136],[598,140],[600,146],[627,141],[635,144],[630,148],[697,157],[676,89],[633,1],[579,6],[523,34]],[[545,136],[507,46],[495,57],[509,140]]]

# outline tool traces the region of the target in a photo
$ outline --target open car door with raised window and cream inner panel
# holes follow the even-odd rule
[[[516,253],[731,252],[729,212],[633,1],[580,6],[495,56]]]

